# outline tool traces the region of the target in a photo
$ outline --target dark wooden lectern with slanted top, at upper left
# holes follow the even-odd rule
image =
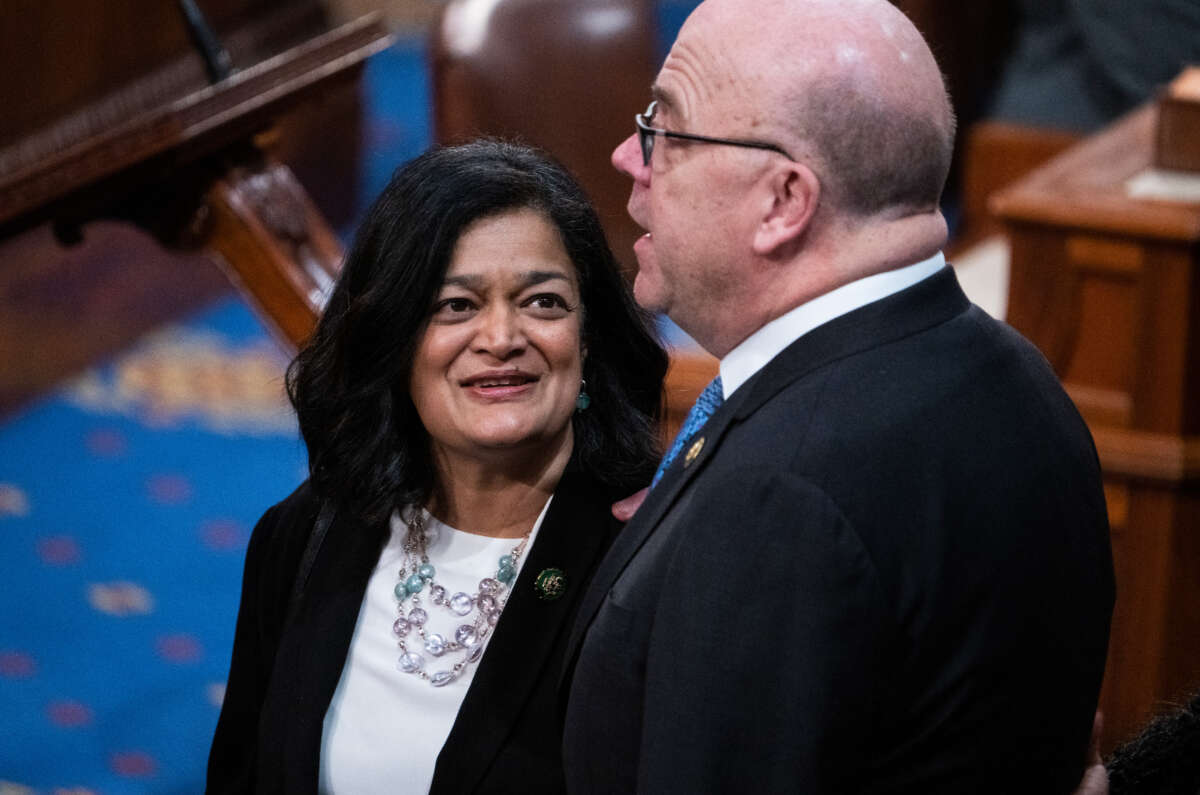
[[[107,327],[137,327],[89,315],[86,301],[77,301],[80,319],[94,321],[74,329],[82,341],[42,346],[71,331],[64,322],[48,322],[42,324],[48,333],[25,333],[30,298],[42,297],[35,301],[41,306],[66,305],[68,299],[55,303],[43,294],[90,298],[102,292],[98,282],[113,294],[139,294],[145,292],[139,276],[156,273],[144,261],[178,255],[184,261],[178,280],[158,282],[180,286],[160,291],[157,303],[184,304],[190,283],[208,289],[208,277],[192,273],[193,252],[217,262],[287,342],[311,333],[342,249],[284,165],[296,141],[290,133],[302,126],[292,122],[323,122],[325,171],[341,175],[335,166],[358,132],[356,116],[341,113],[343,104],[348,97],[356,109],[362,66],[391,37],[377,14],[330,26],[320,0],[203,5],[212,28],[188,0],[114,0],[95,8],[48,0],[25,4],[23,24],[0,29],[0,64],[8,77],[0,120],[5,369],[62,358],[46,347],[70,348],[65,364],[79,366],[113,352],[89,339],[112,336]],[[342,192],[335,186],[334,193]],[[167,319],[156,310],[148,313]],[[14,343],[14,337],[20,339]],[[46,387],[65,375],[41,370],[0,376],[0,411],[26,400],[26,384]]]

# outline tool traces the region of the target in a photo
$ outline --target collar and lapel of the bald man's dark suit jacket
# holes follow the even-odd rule
[[[566,647],[566,665],[560,685],[569,683],[583,635],[600,609],[613,582],[674,504],[679,492],[704,468],[716,453],[726,431],[757,411],[781,389],[814,370],[854,353],[886,345],[944,323],[965,312],[970,301],[959,288],[949,267],[912,287],[862,306],[829,321],[785,348],[762,370],[733,393],[696,435],[704,437],[700,454],[688,465],[688,449],[650,490],[646,502],[617,537],[592,581],[580,608],[578,618]]]

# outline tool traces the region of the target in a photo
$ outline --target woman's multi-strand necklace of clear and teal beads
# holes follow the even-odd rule
[[[437,569],[430,563],[431,538],[425,528],[425,512],[419,507],[414,508],[412,519],[404,524],[408,526],[403,544],[404,562],[400,567],[400,581],[394,590],[397,617],[391,624],[400,647],[396,668],[404,674],[420,676],[433,687],[445,687],[484,656],[484,641],[500,620],[500,612],[509,600],[512,581],[517,575],[517,562],[533,527],[526,531],[511,552],[500,557],[496,575],[479,581],[475,593],[458,591],[451,594],[434,579]],[[461,621],[452,638],[426,630],[430,614],[421,606],[421,593],[426,592],[426,586],[430,609],[437,611],[440,608],[454,616],[452,620]],[[415,639],[412,636],[414,630]],[[452,665],[430,674],[425,670],[425,656],[413,646],[419,646],[434,660],[448,656],[458,656],[458,659]]]

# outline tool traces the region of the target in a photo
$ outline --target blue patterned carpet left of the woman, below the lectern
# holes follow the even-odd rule
[[[0,793],[203,788],[246,542],[305,474],[284,365],[226,299],[0,428]]]

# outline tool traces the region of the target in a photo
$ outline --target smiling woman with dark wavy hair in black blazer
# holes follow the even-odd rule
[[[563,647],[665,371],[562,167],[397,171],[288,371],[310,478],[246,552],[209,791],[562,791]]]

